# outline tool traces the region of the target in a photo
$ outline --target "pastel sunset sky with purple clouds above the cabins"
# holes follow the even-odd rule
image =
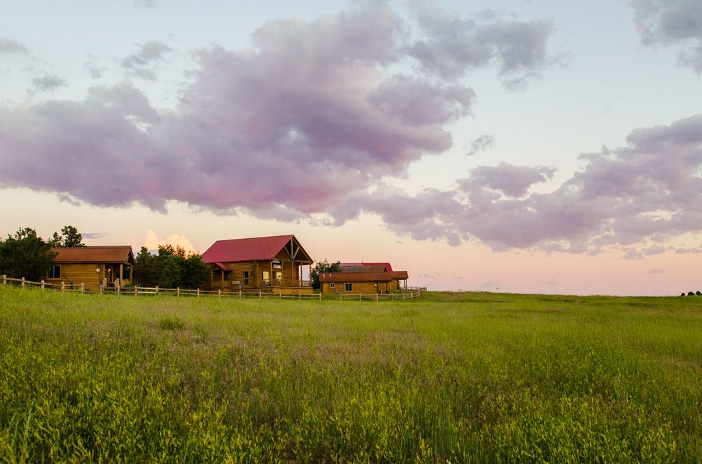
[[[699,0],[6,0],[0,236],[702,289]]]

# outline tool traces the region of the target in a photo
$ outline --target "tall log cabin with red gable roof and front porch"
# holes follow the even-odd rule
[[[210,288],[224,292],[312,293],[312,258],[293,235],[217,240],[202,254]]]

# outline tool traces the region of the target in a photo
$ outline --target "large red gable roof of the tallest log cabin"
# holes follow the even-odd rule
[[[281,250],[286,250],[295,261],[312,263],[312,258],[293,235],[217,240],[201,258],[208,264],[267,261],[274,259]]]

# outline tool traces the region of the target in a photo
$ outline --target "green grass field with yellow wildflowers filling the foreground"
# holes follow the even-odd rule
[[[702,297],[0,286],[0,461],[696,462]]]

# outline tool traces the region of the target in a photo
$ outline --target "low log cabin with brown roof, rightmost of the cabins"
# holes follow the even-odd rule
[[[320,273],[324,294],[386,294],[407,287],[407,271],[393,271],[390,263],[340,263],[341,271]]]

